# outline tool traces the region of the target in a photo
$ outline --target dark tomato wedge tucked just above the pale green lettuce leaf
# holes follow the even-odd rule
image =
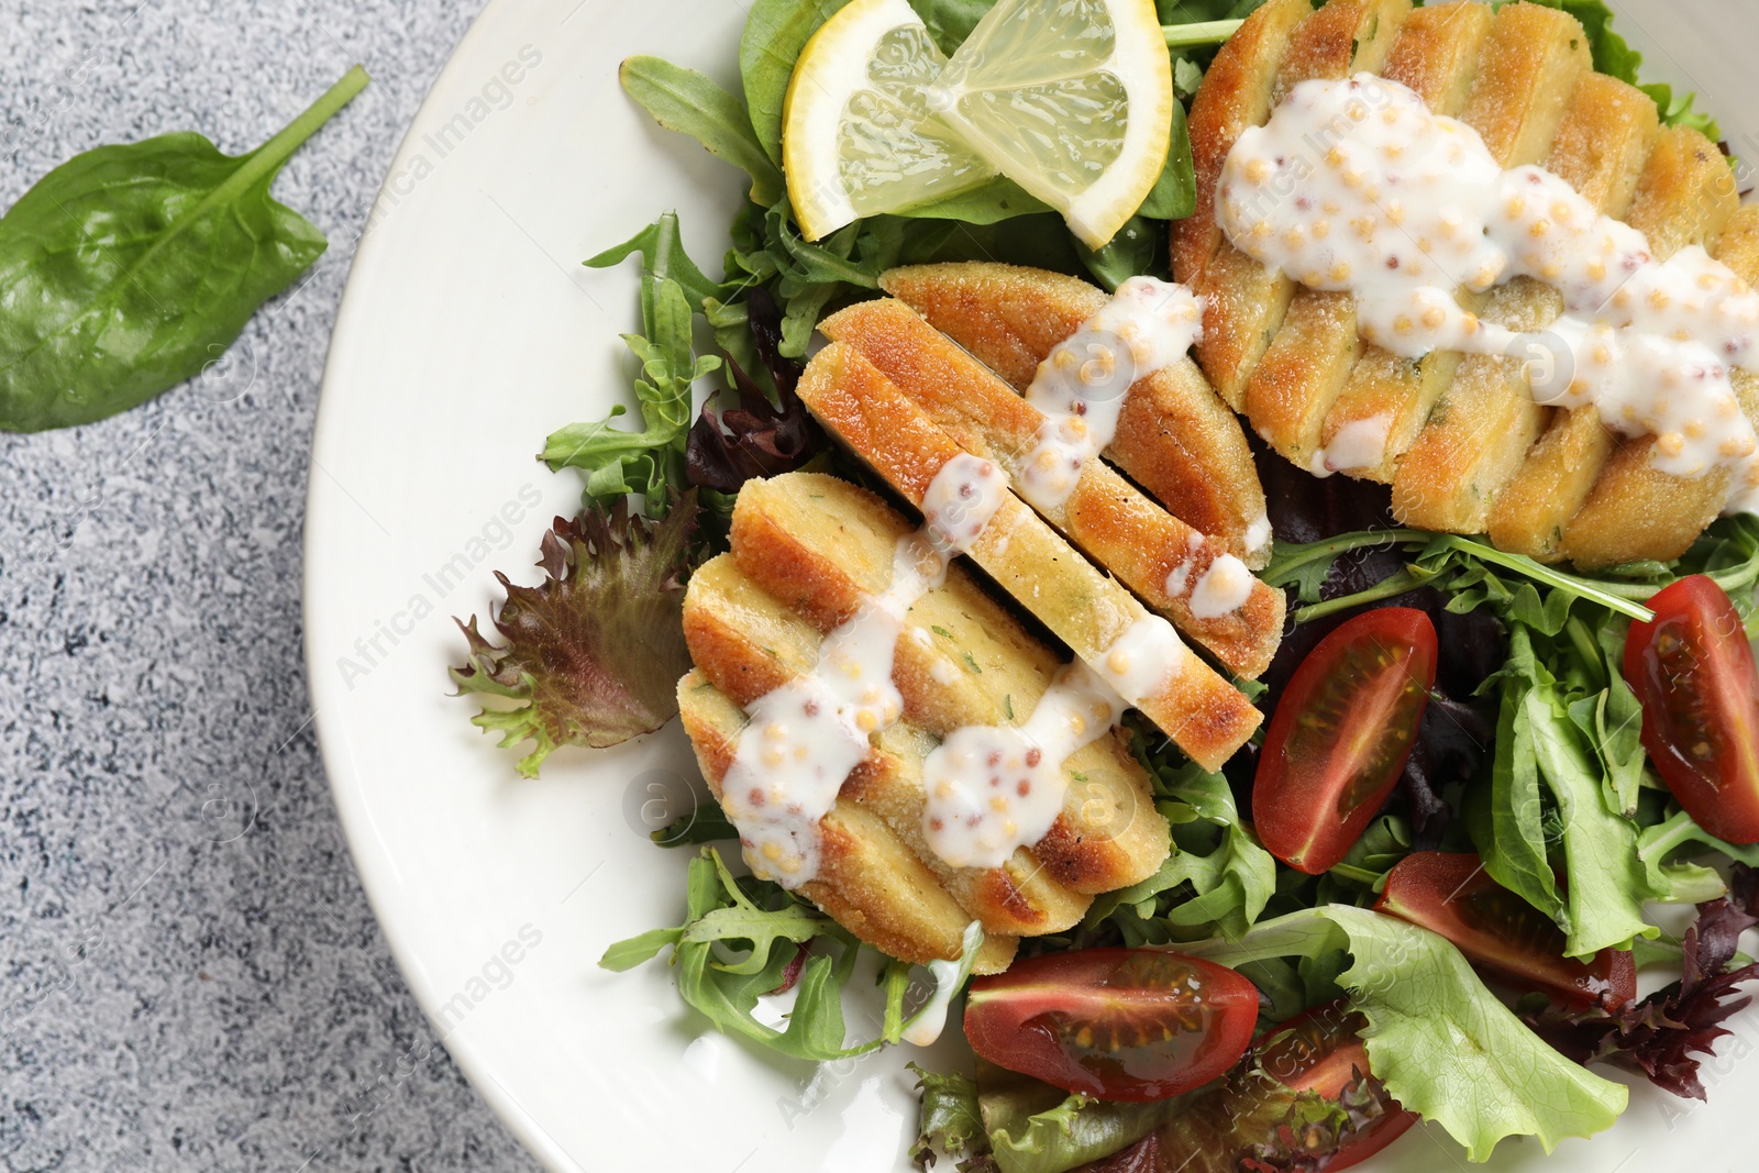
[[[1576,1008],[1620,1009],[1638,995],[1629,950],[1564,957],[1564,930],[1492,879],[1476,855],[1407,855],[1386,874],[1374,911],[1437,932],[1511,985]]]

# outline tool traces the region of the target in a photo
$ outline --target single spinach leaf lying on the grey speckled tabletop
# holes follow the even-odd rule
[[[225,353],[324,253],[269,185],[366,83],[355,65],[248,155],[178,132],[86,151],[25,192],[0,218],[0,429],[116,415]]]

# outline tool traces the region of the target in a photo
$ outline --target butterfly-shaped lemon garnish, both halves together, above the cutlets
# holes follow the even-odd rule
[[[1099,248],[1159,178],[1173,100],[1154,0],[1001,0],[952,62],[906,0],[855,0],[788,83],[788,193],[818,239],[999,171]]]

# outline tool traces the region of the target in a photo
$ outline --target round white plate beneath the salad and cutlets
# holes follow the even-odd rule
[[[1736,149],[1759,157],[1736,49],[1759,40],[1759,14],[1706,4],[1715,19],[1704,11],[1692,26],[1664,0],[1629,7],[1639,47],[1653,47],[1645,30],[1669,44],[1653,76],[1696,83]],[[649,783],[695,777],[675,726],[561,751],[542,781],[521,781],[466,721],[470,702],[447,696],[463,647],[449,616],[487,616],[493,570],[535,582],[538,535],[577,506],[577,480],[533,452],[626,396],[617,332],[637,324],[635,266],[593,273],[580,259],[677,208],[691,255],[714,271],[741,197],[730,167],[624,98],[617,62],[658,53],[737,91],[742,19],[725,0],[489,4],[387,178],[317,427],[306,649],[336,805],[447,1050],[552,1169],[878,1173],[908,1164],[915,1131],[904,1048],[823,1067],[777,1060],[704,1034],[663,965],[596,967],[610,941],[681,918],[686,856],[635,830]],[[1617,1129],[1539,1168],[1748,1168],[1738,1154],[1759,1071],[1738,1057],[1759,1025],[1736,1027],[1727,1060],[1706,1064],[1712,1106],[1638,1089]],[[936,1059],[957,1062],[957,1050]],[[1539,1157],[1507,1143],[1492,1168]],[[1372,1169],[1455,1161],[1430,1134]]]

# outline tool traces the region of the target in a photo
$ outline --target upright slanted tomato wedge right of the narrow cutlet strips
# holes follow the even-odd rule
[[[1258,837],[1317,876],[1349,855],[1398,784],[1435,684],[1435,624],[1411,607],[1356,616],[1307,654],[1252,781]]]

